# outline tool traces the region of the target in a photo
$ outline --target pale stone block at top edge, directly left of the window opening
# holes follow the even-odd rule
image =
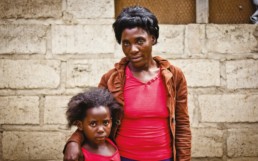
[[[67,0],[67,11],[75,18],[114,18],[114,8],[112,0]]]

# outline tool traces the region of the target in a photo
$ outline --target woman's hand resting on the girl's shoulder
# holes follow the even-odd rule
[[[64,161],[79,161],[83,158],[81,147],[76,142],[69,142],[65,147]]]

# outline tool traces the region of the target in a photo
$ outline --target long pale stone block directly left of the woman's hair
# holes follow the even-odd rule
[[[115,37],[111,25],[52,27],[53,54],[114,53]]]

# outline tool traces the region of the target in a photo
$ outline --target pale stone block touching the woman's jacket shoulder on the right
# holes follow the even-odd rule
[[[182,69],[189,87],[220,86],[220,63],[215,60],[170,60]]]

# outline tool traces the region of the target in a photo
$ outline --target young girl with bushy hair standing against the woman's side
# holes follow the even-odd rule
[[[85,137],[79,161],[120,161],[117,147],[108,138],[119,113],[121,107],[104,89],[91,88],[71,98],[66,111],[68,127],[76,125]]]

